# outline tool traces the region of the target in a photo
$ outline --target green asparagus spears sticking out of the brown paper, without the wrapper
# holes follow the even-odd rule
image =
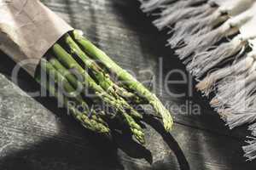
[[[118,119],[130,128],[139,143],[144,144],[143,128],[139,124],[143,116],[131,104],[152,105],[158,116],[162,116],[166,130],[172,128],[172,116],[160,100],[79,31],[61,37],[41,59],[40,68],[36,80],[50,94],[63,100],[84,127],[96,133],[110,135],[108,121]],[[43,80],[42,75],[49,79]],[[117,77],[120,83],[114,82],[115,78],[110,75]],[[77,89],[82,93],[76,93]],[[75,105],[68,105],[69,101],[82,105],[83,111]],[[111,112],[96,111],[94,106],[97,104],[108,105]]]

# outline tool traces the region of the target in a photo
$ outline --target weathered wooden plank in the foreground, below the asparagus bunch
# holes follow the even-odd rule
[[[241,142],[180,124],[165,133],[145,117],[145,147],[129,136],[114,143],[96,137],[62,115],[52,99],[50,110],[0,75],[0,167],[2,169],[253,169],[241,159]],[[41,102],[44,103],[44,102]],[[61,114],[62,113],[62,114]]]

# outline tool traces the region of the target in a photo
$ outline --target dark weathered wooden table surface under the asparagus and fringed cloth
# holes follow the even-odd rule
[[[165,104],[200,105],[201,114],[187,114],[188,111],[177,111],[175,107],[171,134],[148,117],[145,147],[119,135],[111,143],[80,127],[56,107],[55,99],[28,96],[26,92],[38,90],[38,84],[24,71],[18,83],[9,80],[15,63],[1,54],[1,170],[255,169],[255,162],[246,162],[242,157],[241,145],[248,134],[245,127],[234,131],[224,127],[224,122],[207,105],[207,99],[202,99],[195,90],[188,93],[191,82],[162,88],[160,77],[184,68],[172,50],[165,48],[165,32],[158,32],[150,24],[152,19],[140,12],[136,0],[43,2],[73,27],[83,30],[119,65],[137,73],[139,80],[149,77],[141,71],[153,71],[156,94]],[[170,79],[179,78],[172,75]],[[189,97],[175,98],[167,90]]]

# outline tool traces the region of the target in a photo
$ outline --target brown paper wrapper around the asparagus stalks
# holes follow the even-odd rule
[[[49,48],[72,30],[38,0],[0,0],[0,49],[32,77]]]

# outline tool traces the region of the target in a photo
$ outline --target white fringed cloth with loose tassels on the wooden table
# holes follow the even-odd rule
[[[159,15],[154,25],[169,29],[168,44],[212,97],[211,105],[232,129],[250,124],[243,147],[256,158],[256,1],[141,0],[144,12]]]

